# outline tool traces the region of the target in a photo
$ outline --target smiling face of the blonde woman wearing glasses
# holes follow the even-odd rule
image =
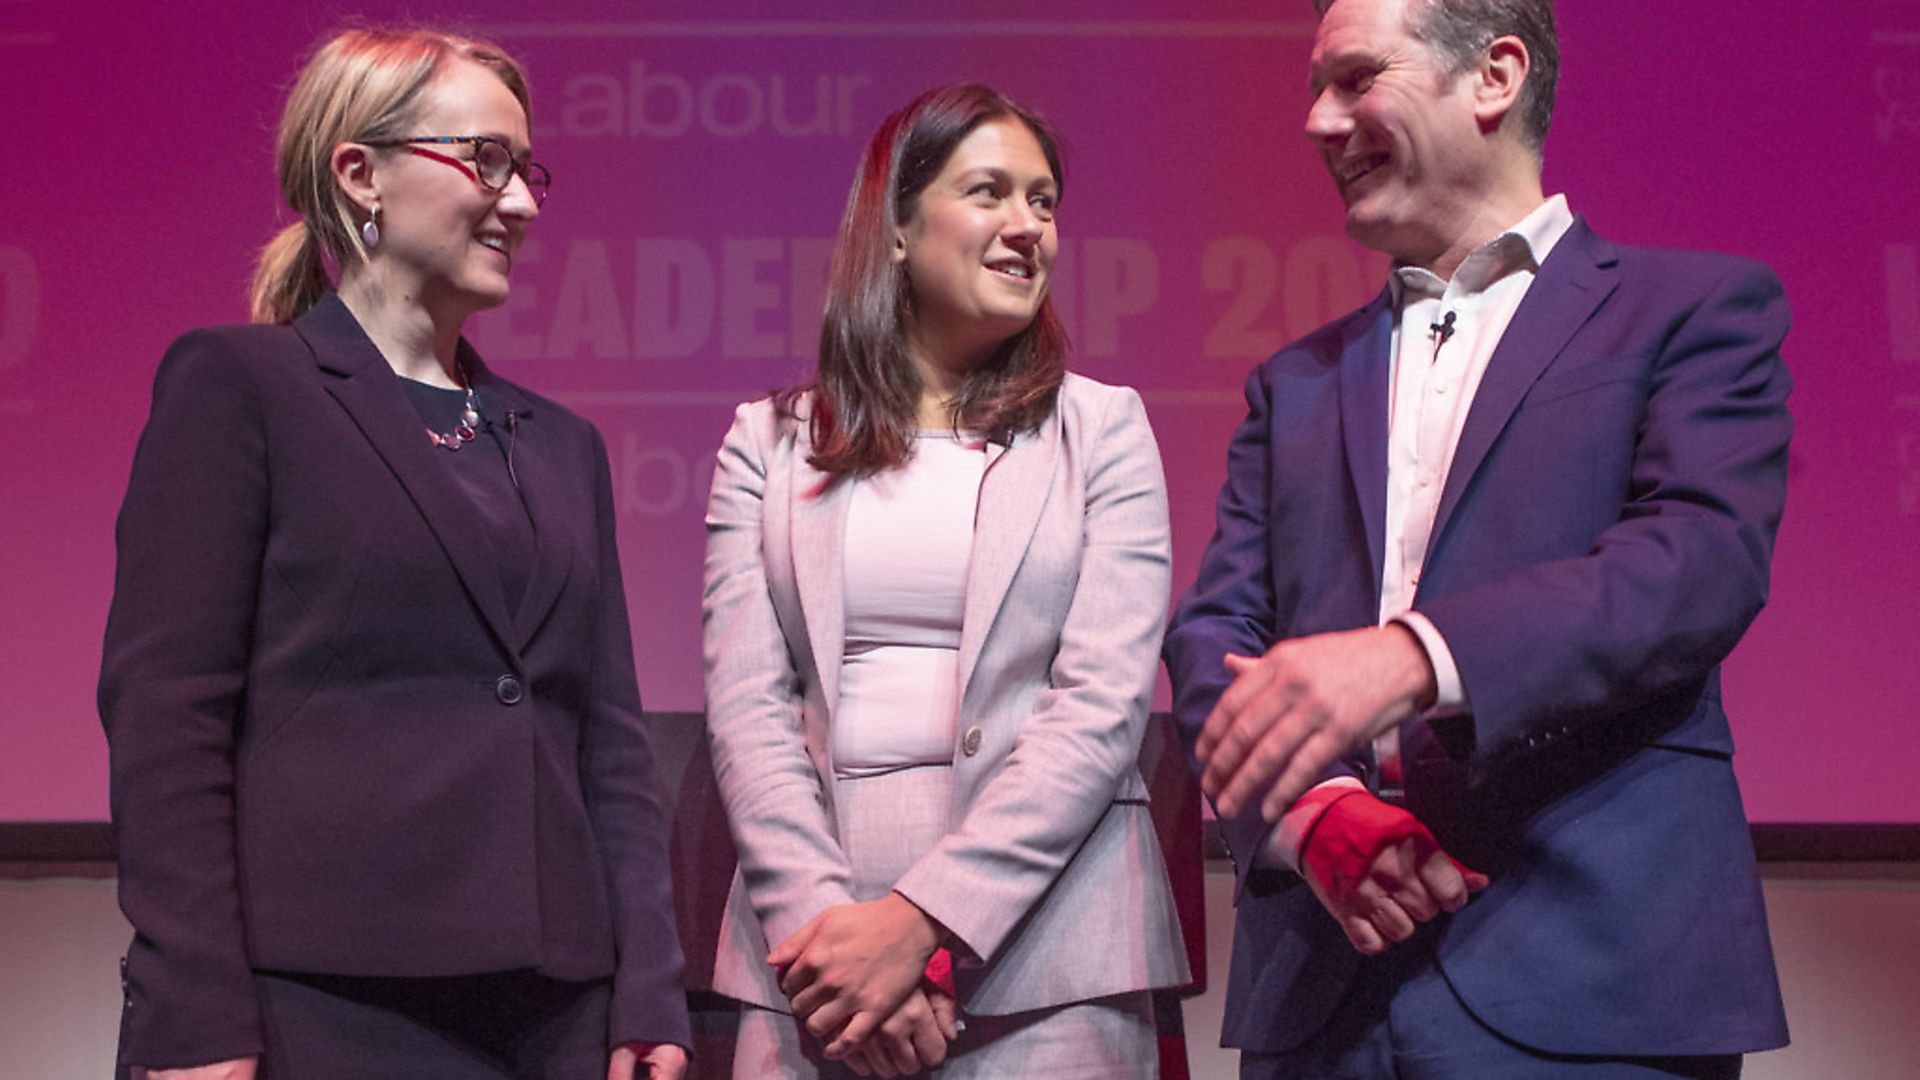
[[[420,96],[403,135],[488,135],[522,161],[528,156],[526,111],[499,75],[480,63],[451,63]],[[540,209],[515,177],[505,190],[480,184],[474,148],[424,146],[457,158],[451,165],[405,146],[378,150],[380,244],[372,258],[396,288],[455,323],[507,302],[513,254]]]

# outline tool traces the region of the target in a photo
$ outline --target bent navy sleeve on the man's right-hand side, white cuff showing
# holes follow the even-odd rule
[[[1766,601],[1789,319],[1770,271],[1726,265],[1678,263],[1651,286],[1699,300],[1645,329],[1659,338],[1619,521],[1580,557],[1415,603],[1459,665],[1480,759],[1699,686]],[[1684,281],[1703,267],[1722,269],[1711,286]]]

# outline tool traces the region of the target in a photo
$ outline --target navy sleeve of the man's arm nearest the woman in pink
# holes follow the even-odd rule
[[[1273,646],[1275,628],[1271,538],[1271,386],[1267,367],[1246,379],[1246,419],[1227,446],[1227,482],[1215,503],[1213,538],[1200,557],[1200,575],[1173,609],[1164,657],[1173,682],[1173,719],[1192,753],[1208,713],[1233,682],[1227,653],[1261,655]],[[1329,774],[1356,774],[1336,765]],[[1261,821],[1254,799],[1233,819],[1219,821],[1244,886],[1254,859],[1273,826]]]

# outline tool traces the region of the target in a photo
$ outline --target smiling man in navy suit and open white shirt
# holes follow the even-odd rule
[[[1786,1042],[1718,665],[1788,309],[1546,198],[1551,0],[1319,0],[1369,306],[1246,384],[1165,659],[1238,871],[1244,1076],[1738,1076]]]

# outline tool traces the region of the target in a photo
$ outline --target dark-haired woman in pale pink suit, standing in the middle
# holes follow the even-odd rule
[[[820,369],[720,450],[737,1078],[1156,1070],[1148,990],[1187,980],[1135,767],[1167,503],[1140,398],[1064,371],[1060,192],[1052,133],[995,90],[887,117]]]

